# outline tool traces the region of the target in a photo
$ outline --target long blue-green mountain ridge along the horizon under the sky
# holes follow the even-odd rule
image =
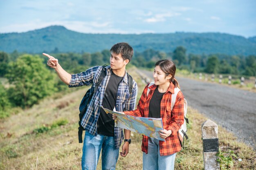
[[[25,33],[0,34],[0,50],[4,52],[97,52],[110,49],[117,42],[128,42],[139,52],[148,48],[171,52],[184,46],[187,53],[194,54],[256,54],[256,37],[247,39],[225,33],[88,34],[49,26]]]

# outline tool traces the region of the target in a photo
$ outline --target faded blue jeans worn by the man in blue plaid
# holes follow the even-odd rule
[[[114,137],[94,136],[87,131],[83,141],[82,170],[96,170],[101,149],[102,170],[115,170],[119,148],[115,148]]]

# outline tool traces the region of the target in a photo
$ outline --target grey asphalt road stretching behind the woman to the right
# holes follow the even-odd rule
[[[151,72],[140,71],[152,78]],[[256,148],[256,93],[189,78],[176,79],[190,107]]]

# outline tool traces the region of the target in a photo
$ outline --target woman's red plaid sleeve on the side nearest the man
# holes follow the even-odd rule
[[[144,117],[144,104],[147,100],[147,91],[148,91],[148,85],[144,88],[143,93],[141,94],[139,103],[137,105],[137,109],[132,111],[125,111],[124,113],[126,115]]]

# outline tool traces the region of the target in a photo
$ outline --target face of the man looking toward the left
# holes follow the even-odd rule
[[[122,58],[122,54],[116,54],[115,52],[111,52],[110,55],[110,68],[113,70],[118,70],[125,67],[128,64],[129,60],[124,60]]]

